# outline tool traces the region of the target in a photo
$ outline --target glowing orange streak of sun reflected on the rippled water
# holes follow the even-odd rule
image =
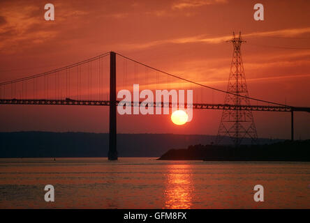
[[[191,165],[168,165],[165,180],[165,208],[188,209],[192,205]]]

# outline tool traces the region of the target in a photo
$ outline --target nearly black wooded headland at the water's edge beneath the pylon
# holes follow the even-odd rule
[[[279,141],[255,146],[195,145],[186,149],[170,149],[158,160],[205,161],[300,161],[310,162],[310,139]]]

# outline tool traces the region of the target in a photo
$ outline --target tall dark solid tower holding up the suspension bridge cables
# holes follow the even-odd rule
[[[110,52],[110,131],[108,160],[117,160],[116,54]]]

